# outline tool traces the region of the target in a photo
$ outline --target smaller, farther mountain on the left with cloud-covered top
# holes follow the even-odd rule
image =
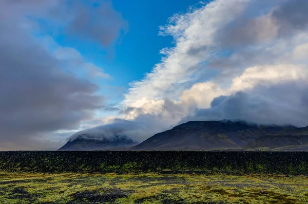
[[[101,138],[101,139],[96,139]],[[91,150],[127,150],[129,146],[136,145],[131,138],[126,136],[113,136],[111,138],[91,137],[88,134],[76,136],[69,140],[59,151],[91,151]]]

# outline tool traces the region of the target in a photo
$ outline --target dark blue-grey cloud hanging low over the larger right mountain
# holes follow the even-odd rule
[[[191,120],[240,119],[260,124],[308,125],[308,84],[304,81],[220,96],[210,108],[196,109],[180,123]]]

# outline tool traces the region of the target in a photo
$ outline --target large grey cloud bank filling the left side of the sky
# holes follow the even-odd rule
[[[109,46],[127,23],[110,3],[96,1],[4,0],[0,18],[0,150],[55,149],[61,133],[54,131],[78,129],[104,106],[99,86],[79,73],[110,76],[46,33]]]

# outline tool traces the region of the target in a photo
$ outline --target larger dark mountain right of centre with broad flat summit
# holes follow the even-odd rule
[[[218,150],[243,147],[264,135],[295,126],[257,125],[243,121],[190,121],[158,133],[130,150]]]

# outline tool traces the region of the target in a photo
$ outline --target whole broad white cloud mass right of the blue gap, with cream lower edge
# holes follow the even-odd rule
[[[275,11],[282,3],[260,1],[260,5],[272,7],[267,13],[260,10],[247,17],[249,5],[258,4],[256,1],[218,0],[172,16],[160,34],[172,35],[176,45],[162,49],[161,53],[166,54],[162,62],[143,80],[131,84],[123,105],[141,108],[142,112],[132,110],[127,118],[133,119],[140,113],[162,113],[165,99],[205,108],[215,97],[260,83],[277,84],[306,77],[306,67],[289,56],[290,47],[297,46],[296,58],[305,51],[301,45],[305,39],[298,40],[301,32],[283,38],[279,35],[281,25]],[[222,65],[218,76],[202,82],[200,76],[211,70],[211,61],[224,60],[223,54],[230,46],[235,50],[227,57],[227,63],[233,65]]]

